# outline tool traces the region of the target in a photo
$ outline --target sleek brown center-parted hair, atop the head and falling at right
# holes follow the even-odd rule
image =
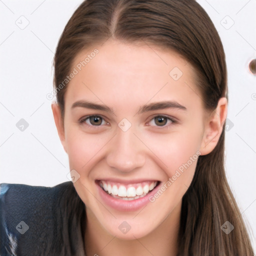
[[[68,85],[63,81],[71,72],[74,57],[108,38],[152,43],[179,53],[195,69],[208,111],[214,111],[220,97],[227,97],[223,46],[209,16],[195,0],[85,0],[67,22],[54,56],[54,89],[62,118]],[[253,255],[225,176],[224,132],[212,152],[199,156],[182,198],[180,256]],[[228,234],[221,229],[225,221],[234,226]]]

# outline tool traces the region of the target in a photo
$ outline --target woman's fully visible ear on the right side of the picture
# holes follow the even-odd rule
[[[226,115],[227,99],[225,97],[221,97],[218,100],[216,109],[212,111],[204,124],[204,133],[200,146],[201,155],[210,153],[216,146],[223,129]]]

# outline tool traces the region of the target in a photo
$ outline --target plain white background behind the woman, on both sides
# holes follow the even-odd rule
[[[214,22],[226,53],[226,173],[255,248],[256,76],[249,73],[248,63],[256,57],[256,0],[198,2]],[[68,180],[68,158],[46,94],[52,91],[58,38],[80,3],[0,0],[1,183],[53,186]],[[21,22],[29,23],[20,29]],[[16,127],[21,118],[28,123],[24,131]]]

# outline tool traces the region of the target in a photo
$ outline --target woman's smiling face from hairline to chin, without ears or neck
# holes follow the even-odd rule
[[[96,48],[73,61],[62,144],[90,221],[139,238],[177,222],[204,154],[205,112],[194,71],[176,53],[112,40]]]

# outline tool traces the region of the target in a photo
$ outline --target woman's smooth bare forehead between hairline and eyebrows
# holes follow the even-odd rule
[[[68,83],[66,104],[104,99],[115,108],[139,101],[172,99],[184,103],[200,99],[194,69],[174,51],[113,40],[95,48],[75,56],[71,70],[75,69],[76,74]]]

